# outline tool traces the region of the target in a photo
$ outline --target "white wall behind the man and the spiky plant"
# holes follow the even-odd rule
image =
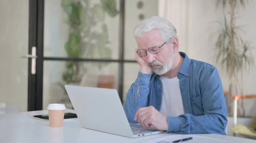
[[[220,73],[224,90],[228,90],[228,75],[220,65],[215,63],[215,50],[213,46],[216,36],[214,33],[218,27],[216,24],[213,24],[213,21],[219,21],[223,18],[221,9],[216,9],[215,3],[215,0],[159,0],[159,6],[162,6],[163,11],[168,12],[168,14],[165,14],[165,12],[159,9],[159,14],[177,27],[177,34],[181,37],[180,40],[182,40],[180,50],[186,52],[192,59],[215,65]],[[244,25],[243,30],[246,34],[242,34],[243,39],[251,41],[251,46],[254,47],[256,47],[256,41],[254,40],[256,39],[256,19],[253,18],[256,12],[255,6],[256,3],[251,1],[245,10],[241,9],[239,11],[240,18],[236,21],[238,25]],[[176,7],[175,10],[170,10],[174,7]],[[187,30],[184,32],[183,29]],[[252,50],[252,53],[256,59],[256,50]],[[256,94],[254,87],[256,69],[250,73],[244,71],[243,77],[244,94]],[[256,115],[255,99],[244,100],[244,106],[246,116]]]

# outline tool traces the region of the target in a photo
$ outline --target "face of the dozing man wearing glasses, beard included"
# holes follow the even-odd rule
[[[147,50],[147,55],[142,56],[142,58],[152,67],[154,73],[162,75],[172,68],[174,59],[172,46],[169,43],[163,45],[164,41],[161,39],[161,34],[158,30],[148,32],[143,38],[138,38],[137,42],[140,50]],[[148,51],[148,48],[161,45],[163,46],[160,48],[159,53],[151,54]]]

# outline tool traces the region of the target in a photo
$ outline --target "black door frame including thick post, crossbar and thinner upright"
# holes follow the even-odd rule
[[[28,111],[43,109],[43,69],[44,60],[47,61],[76,61],[76,62],[117,62],[119,63],[119,97],[122,101],[124,63],[136,63],[134,60],[124,59],[124,27],[125,0],[120,0],[119,25],[119,59],[84,59],[44,57],[44,0],[29,0],[29,54],[32,47],[37,48],[36,73],[31,74],[31,59],[29,58]]]

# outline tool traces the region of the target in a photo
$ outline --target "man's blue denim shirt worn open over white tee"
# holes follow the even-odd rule
[[[167,132],[226,135],[227,105],[217,68],[205,62],[189,59],[186,53],[180,52],[180,55],[184,61],[177,78],[180,79],[185,114],[178,117],[167,116]],[[123,106],[130,123],[138,123],[134,121],[134,116],[141,107],[153,106],[160,111],[162,87],[160,77],[155,73],[138,73],[136,81],[128,90]]]

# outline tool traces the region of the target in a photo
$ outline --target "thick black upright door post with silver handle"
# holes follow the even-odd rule
[[[42,109],[43,54],[44,54],[44,0],[29,0],[29,54],[36,47],[36,73],[31,73],[32,59],[28,59],[28,111]],[[41,82],[41,83],[40,83]]]

